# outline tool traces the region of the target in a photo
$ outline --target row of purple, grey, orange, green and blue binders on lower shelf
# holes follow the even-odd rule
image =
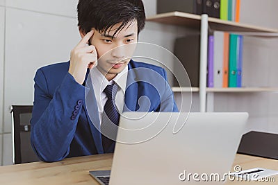
[[[243,36],[215,31],[208,37],[207,87],[242,87]]]

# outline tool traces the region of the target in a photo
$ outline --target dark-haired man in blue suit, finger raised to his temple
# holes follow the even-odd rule
[[[82,39],[70,62],[34,78],[31,145],[43,161],[113,152],[115,137],[101,133],[121,112],[177,112],[165,70],[131,60],[145,26],[142,1],[80,0],[77,10]]]

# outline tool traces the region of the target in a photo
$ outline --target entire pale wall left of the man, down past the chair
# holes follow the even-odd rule
[[[4,60],[1,53],[4,42],[0,42],[0,79],[4,80],[4,85],[0,81],[2,165],[12,164],[13,161],[10,105],[33,105],[35,71],[47,64],[69,60],[70,50],[79,42],[77,2],[9,0],[6,6],[0,8],[1,23],[6,16]],[[6,10],[5,16],[3,10]],[[1,36],[4,25],[0,24]],[[4,65],[4,71],[1,65]]]

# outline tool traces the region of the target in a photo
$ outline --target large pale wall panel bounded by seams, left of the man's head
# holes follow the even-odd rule
[[[78,42],[79,32],[74,18],[7,8],[5,109],[13,104],[32,105],[36,69],[45,64],[67,61],[70,50]],[[11,132],[7,111],[3,127],[4,132]]]

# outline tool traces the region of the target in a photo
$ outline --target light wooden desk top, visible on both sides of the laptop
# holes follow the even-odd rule
[[[111,169],[113,155],[94,155],[74,157],[54,163],[35,162],[0,167],[0,184],[98,184],[89,175],[90,170]],[[249,168],[269,168],[278,170],[278,160],[264,159],[247,155],[236,155],[234,166],[240,165],[243,170]],[[276,184],[276,182],[228,182],[227,184]]]

